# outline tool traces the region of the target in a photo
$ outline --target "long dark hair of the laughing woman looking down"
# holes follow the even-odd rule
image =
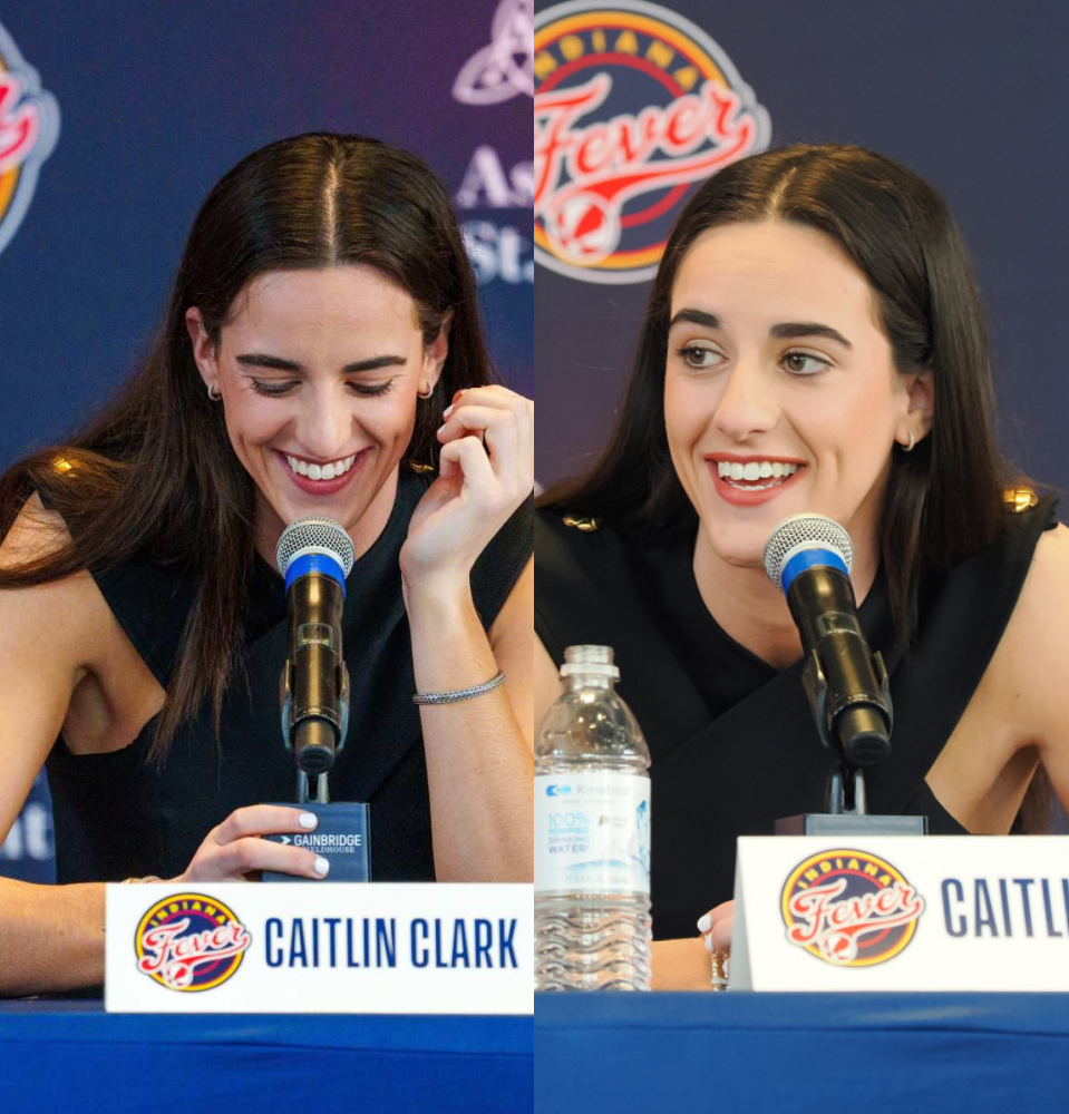
[[[193,224],[166,320],[140,368],[62,446],[0,479],[0,537],[36,490],[74,543],[0,570],[26,587],[144,554],[195,584],[183,651],[152,754],[211,697],[216,733],[240,657],[253,553],[254,489],[193,360],[185,316],[217,344],[237,295],[270,271],[368,264],[412,299],[429,344],[449,331],[437,389],[420,399],[404,461],[437,465],[435,432],[461,387],[496,381],[477,290],[445,187],[418,156],[378,139],[312,133],[254,152],[212,189]]]

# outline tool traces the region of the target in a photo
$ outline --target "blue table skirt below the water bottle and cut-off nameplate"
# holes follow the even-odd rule
[[[540,1114],[1063,1112],[1069,995],[536,995],[535,1064]]]

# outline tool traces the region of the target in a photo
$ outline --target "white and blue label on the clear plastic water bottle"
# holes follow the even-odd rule
[[[619,770],[536,776],[535,890],[649,893],[650,779]]]

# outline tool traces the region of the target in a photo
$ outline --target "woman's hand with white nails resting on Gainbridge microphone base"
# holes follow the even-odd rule
[[[311,831],[319,822],[314,813],[299,808],[254,804],[232,812],[213,828],[197,848],[185,871],[174,882],[247,882],[263,870],[320,879],[330,864],[303,847],[275,843],[261,836]]]

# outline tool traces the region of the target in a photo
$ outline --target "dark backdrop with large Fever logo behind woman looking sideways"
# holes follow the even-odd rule
[[[1069,8],[1042,0],[538,0],[540,481],[602,444],[694,179],[768,146],[836,141],[946,196],[990,313],[1001,442],[1069,486],[1067,41]]]

